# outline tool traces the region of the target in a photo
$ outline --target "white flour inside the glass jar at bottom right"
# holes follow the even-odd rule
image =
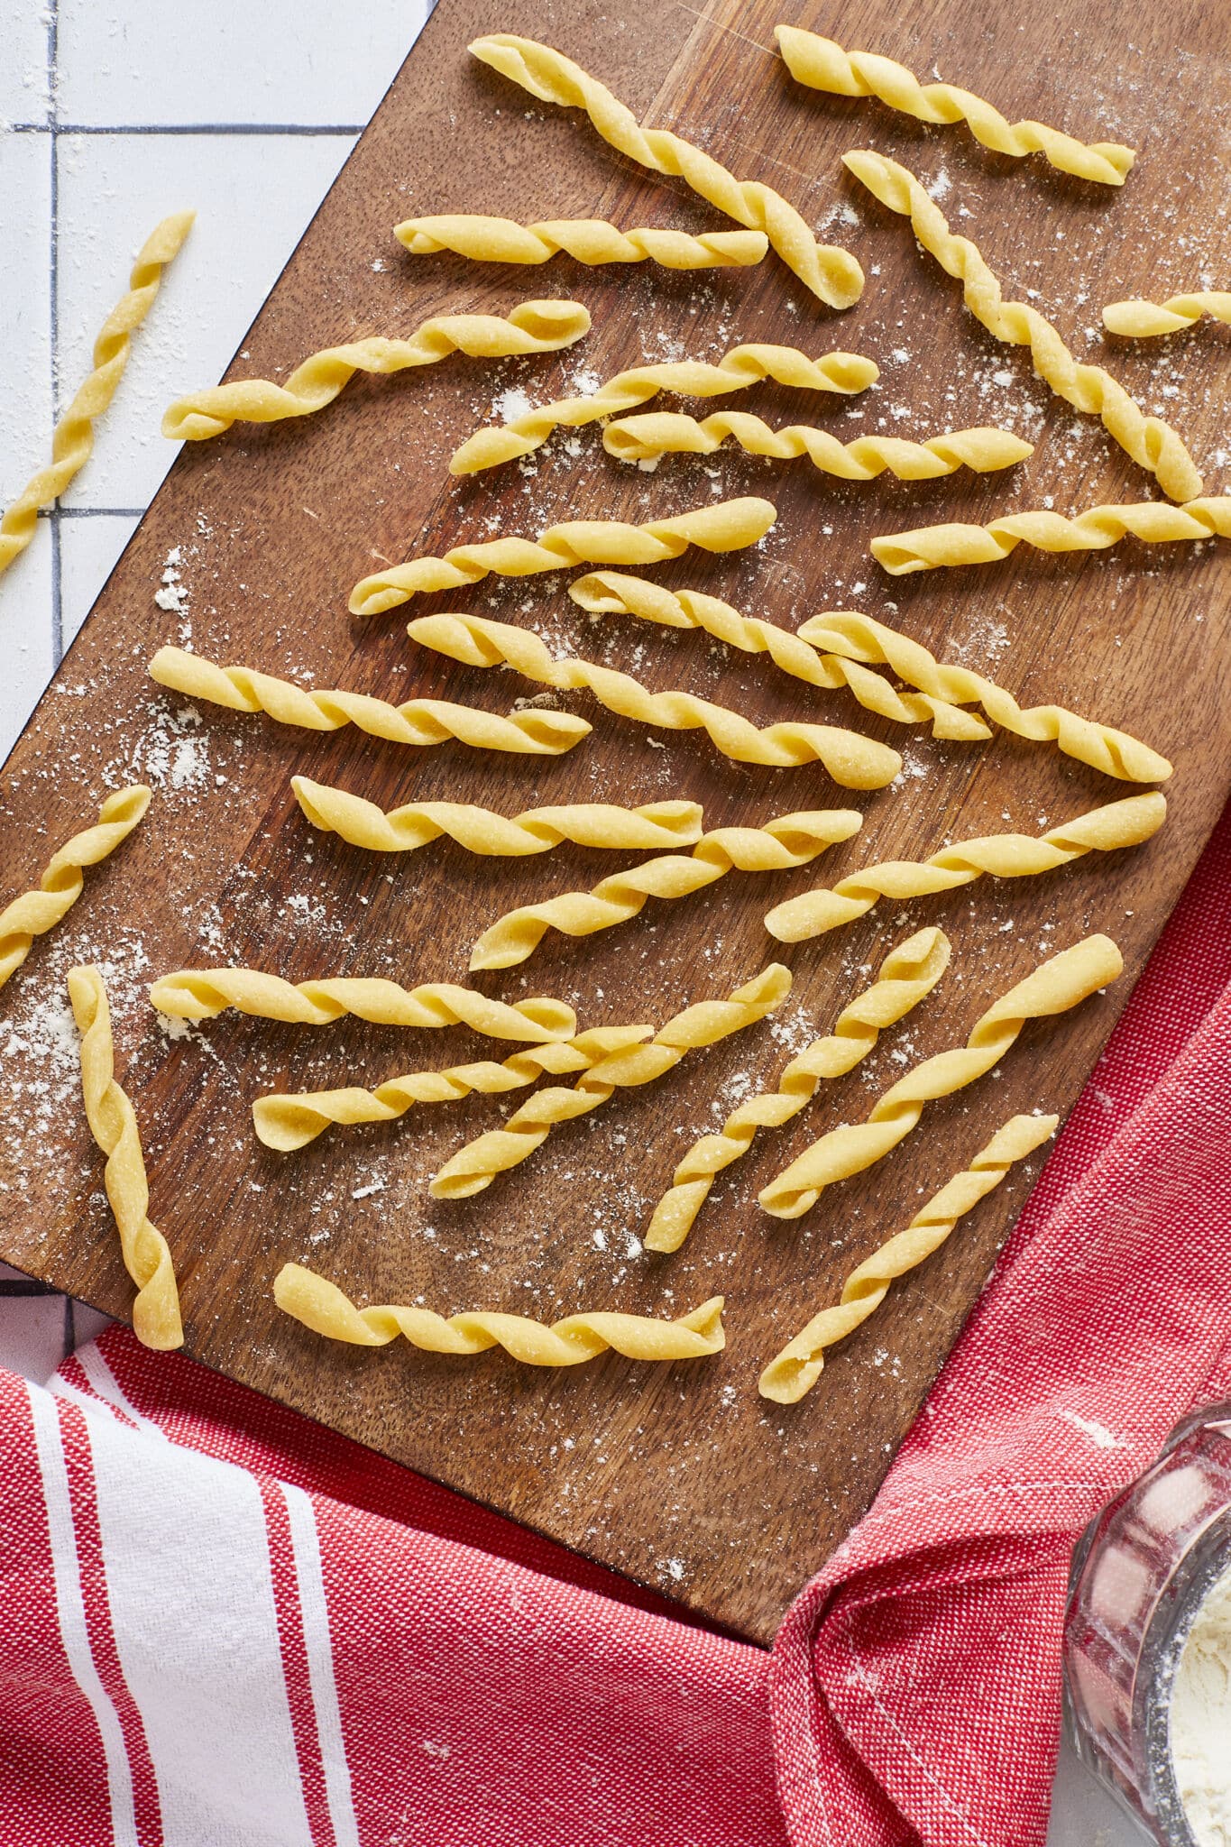
[[[1231,1847],[1231,1572],[1205,1598],[1179,1657],[1172,1762],[1192,1838]]]

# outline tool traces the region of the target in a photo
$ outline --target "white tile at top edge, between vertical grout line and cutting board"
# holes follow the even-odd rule
[[[63,122],[362,124],[421,6],[59,0]]]

